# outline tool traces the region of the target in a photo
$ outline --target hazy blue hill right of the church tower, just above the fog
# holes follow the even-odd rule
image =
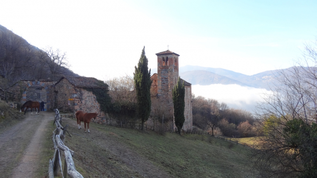
[[[182,79],[191,83],[192,85],[211,85],[211,84],[237,84],[240,86],[249,86],[235,79],[230,79],[229,77],[212,73],[206,70],[194,70],[179,73]]]

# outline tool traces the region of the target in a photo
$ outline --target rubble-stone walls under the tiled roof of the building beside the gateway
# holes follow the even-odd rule
[[[62,79],[56,84],[54,92],[56,93],[55,108],[68,111],[69,107],[70,111],[96,112],[98,116],[105,117],[93,92],[76,87],[69,83],[67,79]],[[73,100],[69,101],[68,99]],[[68,105],[68,101],[70,105]],[[92,119],[91,121],[101,124],[101,118]]]

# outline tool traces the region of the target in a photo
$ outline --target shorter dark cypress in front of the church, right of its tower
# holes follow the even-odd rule
[[[185,86],[184,81],[181,83],[180,77],[178,77],[177,84],[173,88],[173,104],[174,104],[174,121],[180,134],[185,122]]]

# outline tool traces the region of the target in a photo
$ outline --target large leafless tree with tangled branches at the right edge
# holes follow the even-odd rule
[[[294,67],[280,70],[275,76],[279,83],[270,93],[264,93],[264,102],[259,102],[256,107],[258,128],[264,137],[257,138],[251,161],[262,177],[317,176],[317,149],[316,143],[312,142],[316,139],[316,131],[302,130],[305,134],[290,131],[300,128],[299,124],[290,126],[296,120],[307,128],[315,127],[314,123],[317,123],[316,48],[316,42],[307,44],[303,57]]]

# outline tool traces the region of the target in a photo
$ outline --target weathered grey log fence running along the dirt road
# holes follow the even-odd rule
[[[83,178],[83,176],[78,171],[76,171],[72,158],[74,156],[74,151],[64,145],[68,124],[64,127],[61,124],[62,120],[59,111],[57,109],[54,109],[54,111],[56,113],[54,120],[56,129],[53,131],[55,153],[53,160],[49,160],[49,178],[54,178],[54,176],[57,176],[59,172],[63,178]],[[62,169],[61,163],[61,155],[63,153],[62,151],[64,152],[65,156],[64,169]]]

